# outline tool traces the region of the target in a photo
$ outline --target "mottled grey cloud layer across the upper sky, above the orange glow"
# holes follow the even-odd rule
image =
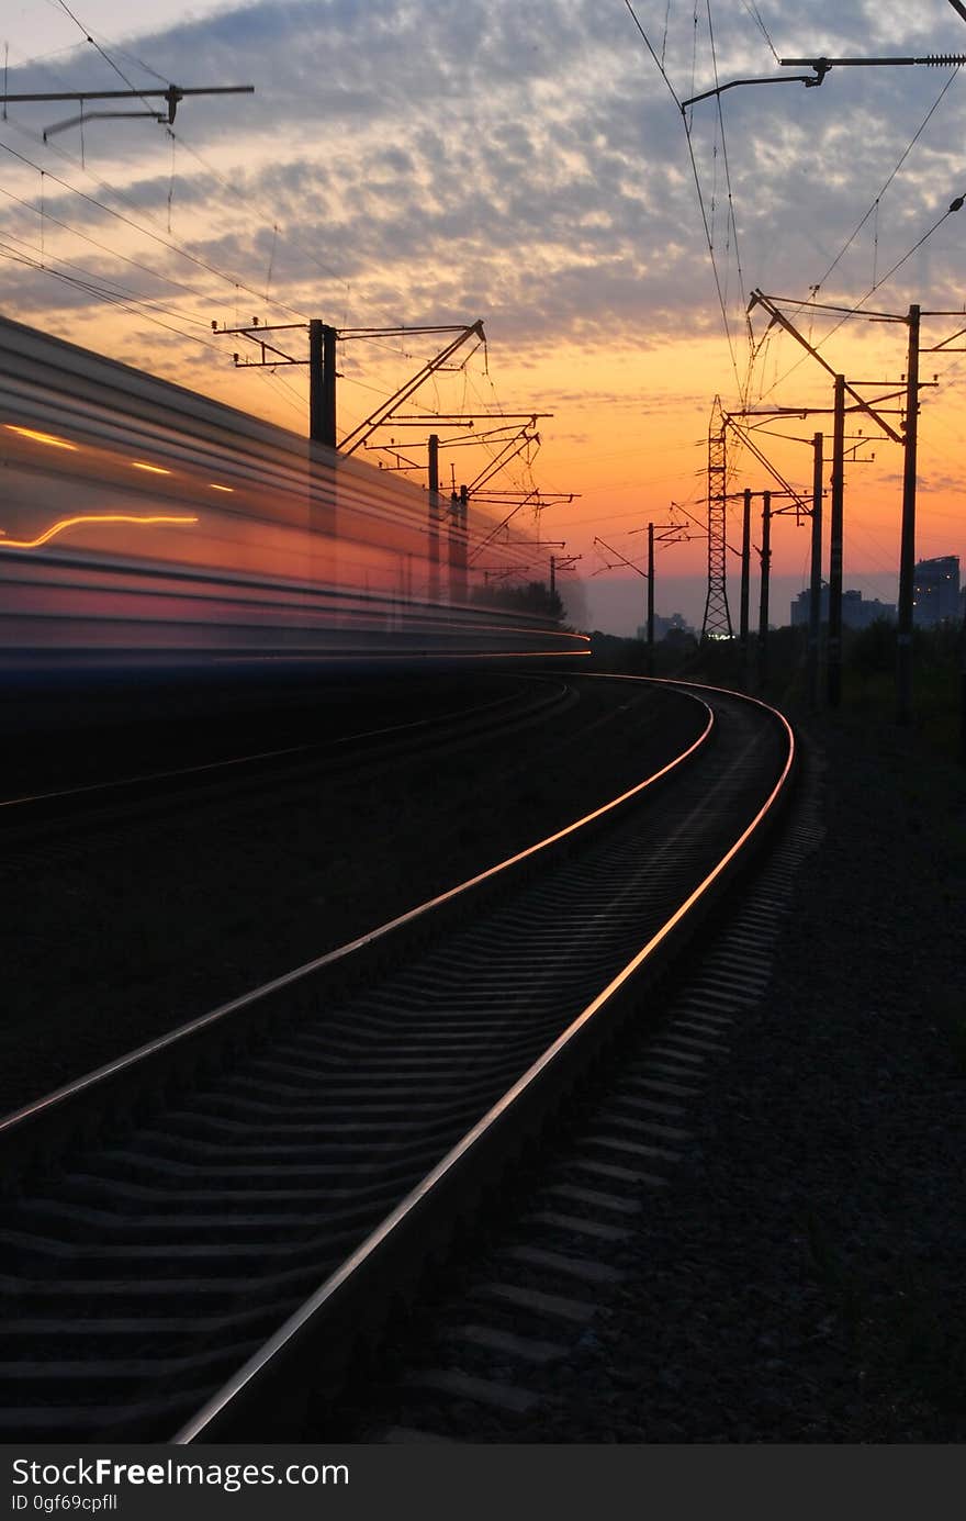
[[[636,9],[659,52],[665,47],[675,88],[689,93],[691,17],[682,21],[675,8],[665,41],[665,6],[642,0]],[[786,0],[758,9],[782,53],[966,46],[966,29],[942,0],[913,18],[884,15],[872,0],[820,0],[808,15]],[[694,87],[707,88],[710,52],[706,38],[698,43]],[[173,234],[225,271],[225,287],[240,278],[262,289],[271,260],[272,292],[300,309],[332,304],[348,284],[353,321],[386,312],[409,322],[484,315],[514,344],[570,336],[643,345],[721,325],[683,123],[619,5],[272,0],[140,37],[131,50],[180,84],[257,87],[251,99],[187,100],[176,122],[184,137],[175,148]],[[717,59],[723,81],[774,73],[744,8],[721,12]],[[138,82],[149,78],[129,59],[123,67]],[[78,88],[119,84],[91,50],[59,61],[59,75]],[[20,71],[11,88],[50,88],[52,78]],[[735,333],[753,284],[805,294],[823,277],[945,78],[841,68],[821,90],[730,91],[723,97],[730,186],[715,103],[694,108],[691,144]],[[964,126],[957,81],[841,254],[828,294],[863,295],[966,190]],[[0,140],[40,161],[41,149],[9,131]],[[172,179],[161,129],[105,122],[90,125],[85,140],[88,163],[110,155],[114,183],[132,176],[131,214],[163,219]],[[228,187],[192,149],[230,164],[219,170]],[[75,169],[62,172],[81,183]],[[47,210],[110,236],[111,219],[76,196],[49,187]],[[957,227],[951,219],[928,243],[928,259],[904,266],[890,301],[911,298],[925,277],[940,300],[955,300]],[[160,245],[151,260],[192,284],[202,280]],[[106,259],[100,268],[158,289]],[[0,278],[8,307],[41,291],[23,271]]]

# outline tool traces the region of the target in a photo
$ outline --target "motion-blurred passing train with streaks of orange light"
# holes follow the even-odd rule
[[[473,605],[467,555],[499,535],[472,502],[467,529],[388,470],[3,318],[0,467],[0,668],[17,686],[589,649]],[[499,551],[525,564],[519,540]]]

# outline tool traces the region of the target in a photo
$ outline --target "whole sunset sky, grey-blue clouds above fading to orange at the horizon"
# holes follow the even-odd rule
[[[715,82],[808,73],[786,56],[966,52],[948,0],[8,0],[0,49],[8,93],[254,85],[183,100],[173,131],[148,117],[50,131],[76,106],[8,106],[0,312],[297,432],[306,370],[236,370],[239,341],[211,322],[482,319],[485,347],[467,344],[409,408],[476,430],[497,412],[546,414],[493,487],[539,488],[548,505],[520,520],[548,569],[551,554],[572,560],[572,616],[610,633],[642,621],[647,522],[694,534],[659,545],[656,607],[700,627],[715,397],[729,414],[806,412],[747,426],[811,491],[831,376],[761,307],[747,316],[753,291],[780,297],[867,399],[907,370],[905,322],[873,313],[946,313],[923,319],[923,348],[966,327],[966,208],[948,210],[966,195],[954,67],[835,67],[820,88],[736,85],[680,110]],[[339,433],[435,342],[342,342]],[[955,350],[922,356],[939,383],[922,392],[917,555],[966,569]],[[435,430],[444,482],[473,479],[487,446]],[[867,418],[849,430],[844,584],[891,602],[902,450]],[[373,462],[411,461],[424,481],[418,429],[376,438]],[[735,427],[727,441],[730,491],[779,490]],[[727,540],[736,619],[738,503]],[[780,514],[773,622],[806,576],[808,526]]]

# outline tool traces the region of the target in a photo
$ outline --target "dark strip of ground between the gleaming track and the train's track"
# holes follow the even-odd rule
[[[9,826],[0,1115],[437,896],[668,751],[662,692],[513,687],[462,729]],[[493,694],[475,683],[462,706]],[[353,712],[353,732],[405,706],[402,691],[382,722]]]

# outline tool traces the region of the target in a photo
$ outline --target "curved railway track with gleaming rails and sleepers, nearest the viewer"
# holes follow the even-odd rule
[[[678,701],[613,806],[2,1124],[5,1440],[306,1430],[783,795],[777,715]]]

